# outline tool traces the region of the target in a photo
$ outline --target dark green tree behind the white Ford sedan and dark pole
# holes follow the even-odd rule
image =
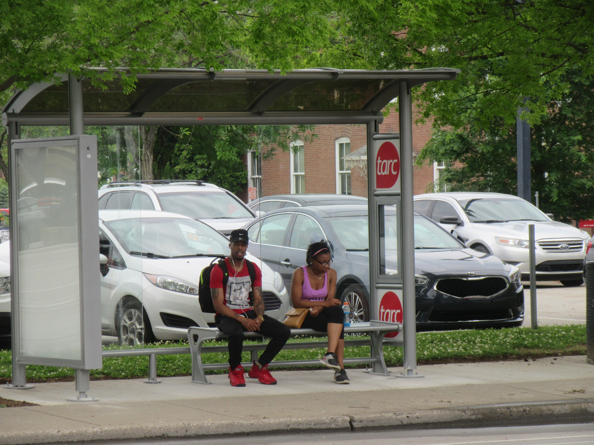
[[[564,81],[567,93],[549,102],[532,128],[532,190],[543,211],[569,222],[594,218],[594,78],[570,72]],[[442,180],[452,191],[515,195],[515,126],[502,118],[486,126],[467,116],[461,130],[438,130],[417,162],[444,161]]]

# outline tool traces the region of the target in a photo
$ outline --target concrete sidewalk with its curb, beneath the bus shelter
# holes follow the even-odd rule
[[[0,444],[594,418],[594,366],[583,356],[418,371],[424,379],[349,370],[349,385],[334,384],[329,370],[273,371],[276,386],[247,379],[244,388],[226,375],[209,376],[211,385],[103,380],[91,382],[94,403],[67,402],[74,383],[2,389],[3,398],[42,406],[0,409]]]

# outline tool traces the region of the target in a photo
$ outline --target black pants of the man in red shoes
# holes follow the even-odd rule
[[[252,320],[257,318],[253,310],[247,311],[245,316]],[[238,320],[224,315],[214,317],[214,323],[216,323],[219,330],[222,330],[229,336],[229,366],[235,369],[241,363],[241,351],[244,348],[244,326]],[[258,359],[258,362],[263,366],[270,363],[276,357],[276,354],[285,346],[291,335],[289,326],[283,325],[283,323],[267,315],[264,315],[264,321],[260,325],[260,330],[256,332],[270,338],[270,342],[268,342],[266,349],[264,349],[264,352],[262,352],[262,355]]]

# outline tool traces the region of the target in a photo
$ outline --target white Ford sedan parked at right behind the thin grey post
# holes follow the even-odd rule
[[[502,193],[450,192],[415,196],[415,211],[457,234],[467,246],[517,266],[529,279],[528,225],[535,225],[536,279],[583,283],[589,234],[553,221],[538,208]]]

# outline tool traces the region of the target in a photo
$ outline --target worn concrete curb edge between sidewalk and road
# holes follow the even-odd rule
[[[281,432],[352,431],[383,428],[463,428],[497,425],[576,423],[594,421],[594,399],[527,403],[491,403],[427,411],[317,418],[257,419],[230,422],[179,422],[120,425],[61,431],[24,431],[0,435],[1,445],[89,440],[170,437],[245,436]]]

